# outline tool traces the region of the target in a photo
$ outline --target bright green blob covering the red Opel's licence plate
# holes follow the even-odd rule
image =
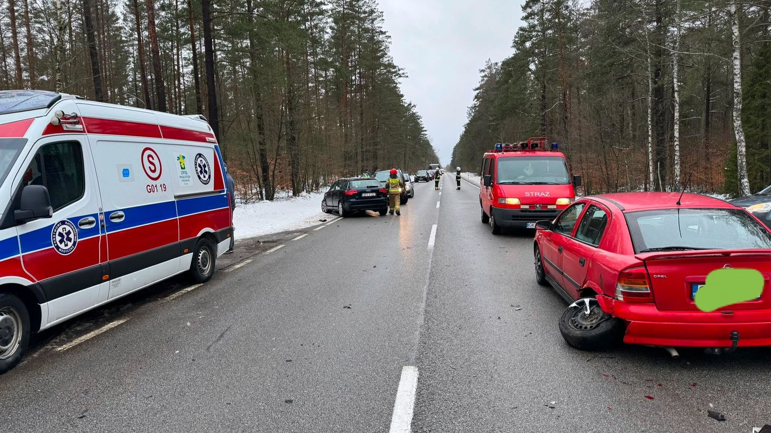
[[[707,276],[694,301],[699,310],[709,313],[763,294],[763,275],[755,269],[717,269]]]

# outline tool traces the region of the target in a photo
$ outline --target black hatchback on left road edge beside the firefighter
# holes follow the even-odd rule
[[[381,215],[388,213],[388,192],[375,178],[341,179],[324,193],[322,212],[336,211],[341,217],[348,217],[362,210],[375,210]]]

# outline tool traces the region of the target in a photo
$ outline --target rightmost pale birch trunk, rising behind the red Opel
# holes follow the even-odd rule
[[[739,39],[739,10],[737,0],[731,0],[731,42],[733,49],[733,132],[736,136],[736,162],[739,171],[739,195],[749,196],[749,177],[747,176],[747,144],[742,127],[742,42]]]

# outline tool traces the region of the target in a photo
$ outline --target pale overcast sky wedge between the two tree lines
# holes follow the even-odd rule
[[[443,164],[453,156],[487,59],[511,55],[524,0],[378,0],[402,92],[423,116]]]

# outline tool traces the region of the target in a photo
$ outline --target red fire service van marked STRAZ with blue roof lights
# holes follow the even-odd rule
[[[534,229],[554,220],[575,200],[581,176],[571,176],[564,153],[546,137],[497,143],[482,158],[480,206],[482,223],[493,234],[502,227]]]

